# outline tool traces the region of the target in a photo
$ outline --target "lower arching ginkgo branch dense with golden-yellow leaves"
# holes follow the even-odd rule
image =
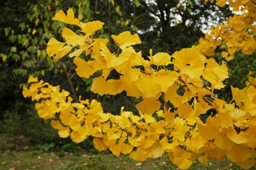
[[[69,93],[60,91],[59,86],[43,80],[38,82],[33,77],[28,82],[31,85],[23,87],[23,95],[37,101],[38,115],[51,118],[52,127],[59,130],[60,137],[70,136],[76,143],[93,136],[99,151],[109,149],[116,156],[128,154],[137,161],[158,158],[167,152],[181,169],[190,167],[196,156],[205,165],[208,158],[223,160],[225,156],[244,169],[256,164],[256,79],[253,77],[242,90],[231,86],[235,103],[225,103],[207,89],[198,91],[198,99],[189,91],[179,96],[175,84],[169,89],[172,95],[165,100],[178,105],[176,110],[170,111],[166,106],[162,110],[157,100],[144,99],[137,104],[144,111],[139,111],[139,116],[124,111],[123,107],[120,115],[104,113],[96,100],[80,98],[79,103],[73,103]],[[149,114],[155,109],[156,115]],[[207,120],[200,120],[199,115],[210,109],[213,112]]]

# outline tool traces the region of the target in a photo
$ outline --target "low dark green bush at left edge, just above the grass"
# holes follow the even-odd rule
[[[14,103],[15,109],[3,114],[0,133],[23,135],[30,143],[58,141],[60,139],[58,131],[52,128],[49,121],[39,118],[34,106],[28,105],[27,108],[25,106],[24,103]]]

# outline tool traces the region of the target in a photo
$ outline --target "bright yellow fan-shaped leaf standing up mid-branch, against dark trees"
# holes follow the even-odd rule
[[[120,47],[120,49],[125,49],[126,47],[141,43],[139,35],[137,33],[131,35],[130,31],[124,31],[118,34],[117,36],[111,35],[111,37],[114,39],[115,43],[117,43],[117,45]]]

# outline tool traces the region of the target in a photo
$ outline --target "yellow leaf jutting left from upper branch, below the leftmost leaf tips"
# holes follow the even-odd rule
[[[96,61],[84,61],[83,59],[76,57],[74,59],[74,64],[77,65],[76,72],[77,75],[84,78],[89,78],[98,70],[101,70],[101,65]]]

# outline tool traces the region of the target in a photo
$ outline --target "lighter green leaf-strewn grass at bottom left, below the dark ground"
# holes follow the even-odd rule
[[[65,153],[64,157],[59,157],[57,152],[39,151],[9,151],[0,152],[0,170],[120,170],[120,169],[145,169],[152,167],[157,169],[156,160],[148,160],[144,163],[133,161],[127,156],[115,157],[108,152],[102,152],[97,155],[81,153],[74,155]],[[161,163],[158,159],[157,162]],[[135,168],[134,168],[135,167]],[[159,168],[158,168],[159,169]]]

